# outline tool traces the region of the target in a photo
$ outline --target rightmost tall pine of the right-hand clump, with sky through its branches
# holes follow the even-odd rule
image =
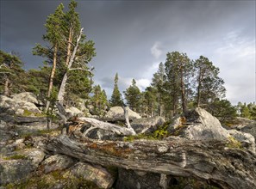
[[[220,70],[208,58],[200,56],[194,62],[194,68],[196,73],[197,107],[200,104],[207,105],[215,101],[216,98],[225,96],[224,81],[218,76]]]

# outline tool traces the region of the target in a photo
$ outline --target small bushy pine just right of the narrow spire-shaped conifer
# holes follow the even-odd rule
[[[140,112],[141,93],[140,93],[140,88],[136,86],[136,81],[134,79],[132,81],[132,85],[130,85],[124,92],[124,95],[128,103],[128,106],[134,112]]]

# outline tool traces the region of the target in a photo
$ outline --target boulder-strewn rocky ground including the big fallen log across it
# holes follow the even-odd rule
[[[0,188],[256,187],[255,122],[237,131],[201,108],[172,124],[129,113],[135,136],[86,123],[64,136],[57,120],[47,130],[34,94],[0,96]],[[102,120],[125,125],[122,107]]]

